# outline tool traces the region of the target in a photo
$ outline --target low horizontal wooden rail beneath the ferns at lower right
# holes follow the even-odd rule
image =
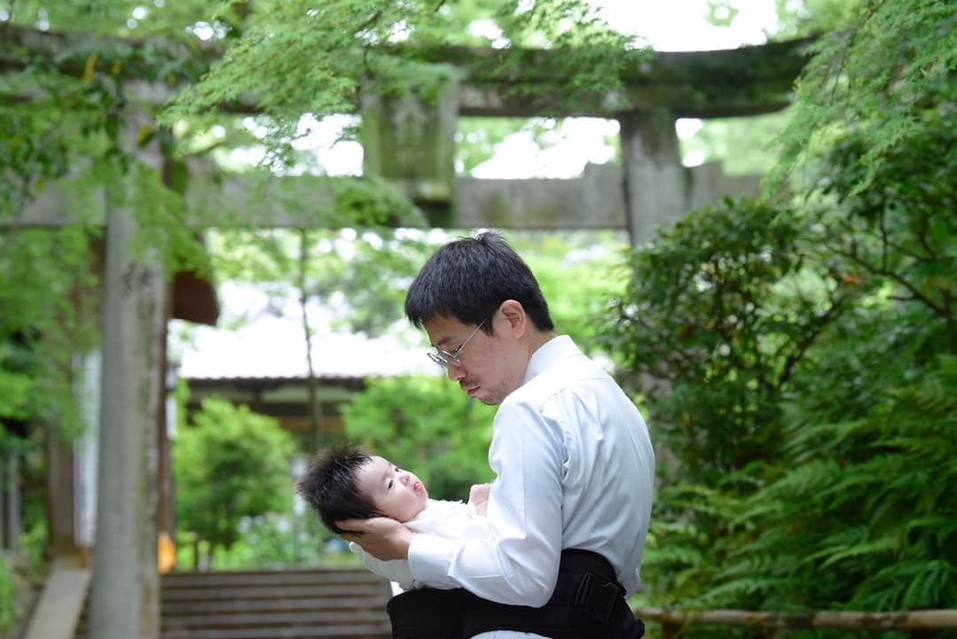
[[[677,635],[685,624],[756,626],[759,628],[856,628],[863,630],[926,630],[957,628],[957,609],[864,612],[812,610],[767,612],[756,610],[666,610],[638,608],[635,616],[663,626],[665,639]]]

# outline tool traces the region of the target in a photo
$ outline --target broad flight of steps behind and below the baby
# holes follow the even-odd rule
[[[364,568],[179,572],[160,639],[389,639],[389,583]],[[80,620],[75,639],[86,636]]]

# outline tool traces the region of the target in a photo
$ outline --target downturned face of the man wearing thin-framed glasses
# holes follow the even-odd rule
[[[516,388],[522,386],[530,354],[519,341],[521,334],[501,311],[488,320],[495,333],[479,330],[457,353],[459,364],[448,364],[448,376],[457,382],[469,397],[483,404],[499,405]],[[424,322],[429,341],[439,350],[455,352],[472,332],[475,324],[464,324],[456,318],[437,316]]]

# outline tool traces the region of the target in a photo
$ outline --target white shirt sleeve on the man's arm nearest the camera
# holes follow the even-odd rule
[[[489,464],[498,475],[483,539],[419,534],[409,563],[416,582],[464,587],[503,604],[544,606],[558,579],[562,544],[562,425],[509,397],[495,417]]]

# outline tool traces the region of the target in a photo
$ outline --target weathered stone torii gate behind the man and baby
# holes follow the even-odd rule
[[[11,41],[34,52],[68,50],[79,37],[8,26]],[[126,41],[129,44],[128,41]],[[680,163],[675,120],[767,113],[787,105],[794,78],[806,62],[808,40],[721,52],[657,54],[622,77],[625,95],[614,111],[607,97],[573,108],[550,102],[546,108],[515,103],[497,91],[494,77],[465,77],[450,84],[434,104],[413,97],[367,96],[357,110],[363,116],[365,171],[400,185],[434,226],[525,229],[627,229],[633,242],[653,236],[658,224],[674,220],[725,195],[753,191],[757,178],[725,178],[720,165],[686,169]],[[135,43],[134,43],[135,44]],[[142,43],[140,43],[142,44]],[[82,48],[77,48],[82,51]],[[176,55],[173,52],[170,55]],[[492,50],[451,48],[437,59],[496,55]],[[531,55],[531,54],[529,54]],[[534,52],[540,61],[545,52]],[[51,55],[51,59],[55,59]],[[85,60],[60,56],[64,73],[82,74]],[[4,62],[0,57],[0,62]],[[125,66],[131,85],[138,70]],[[162,103],[165,86],[138,83],[145,98]],[[591,167],[579,180],[473,180],[455,176],[453,151],[458,116],[545,115],[615,118],[621,125],[622,166]],[[159,143],[137,145],[136,132],[153,122],[143,111],[126,118],[128,150],[144,165],[162,172],[169,162]],[[414,143],[412,143],[414,141]],[[326,179],[276,178],[273,188],[307,189],[316,207],[332,201]],[[273,203],[246,209],[251,187],[239,178],[221,187],[191,188],[193,206],[210,202],[219,210],[242,213],[247,223],[269,227],[309,226],[309,221]],[[7,227],[57,227],[69,224],[64,196],[48,189]],[[268,205],[268,206],[266,206]],[[119,454],[100,455],[100,531],[94,571],[114,575],[94,580],[91,628],[109,626],[109,637],[155,637],[159,628],[156,570],[158,438],[166,367],[169,303],[163,266],[132,258],[125,250],[137,225],[129,210],[102,211],[106,225],[106,266],[102,282],[102,385],[100,440],[109,439]],[[161,427],[162,428],[162,427]],[[105,592],[109,591],[110,596]],[[102,596],[100,596],[102,595]],[[107,608],[104,602],[114,606]]]

